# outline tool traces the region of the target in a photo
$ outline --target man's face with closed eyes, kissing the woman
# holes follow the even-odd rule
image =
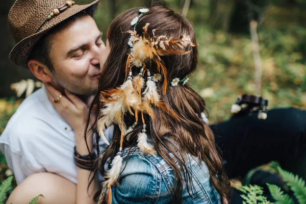
[[[50,40],[56,85],[74,94],[96,93],[100,78],[99,58],[105,45],[93,18],[84,16],[75,20]]]

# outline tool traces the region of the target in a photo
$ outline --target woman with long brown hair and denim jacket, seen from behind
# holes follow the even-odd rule
[[[96,129],[106,143],[114,131],[97,159],[99,203],[226,202],[205,102],[187,83],[198,61],[191,23],[161,6],[133,8],[112,21],[103,52]]]

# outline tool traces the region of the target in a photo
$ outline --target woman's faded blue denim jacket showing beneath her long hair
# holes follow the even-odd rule
[[[135,150],[135,149],[134,149]],[[127,151],[123,151],[123,167],[119,187],[112,189],[113,203],[169,203],[173,192],[174,173],[159,155],[143,155],[139,149],[131,152],[127,165]],[[220,203],[220,196],[210,182],[205,163],[189,156],[188,168],[192,175],[194,190],[188,194],[183,187],[183,203]],[[171,188],[172,187],[172,188]]]

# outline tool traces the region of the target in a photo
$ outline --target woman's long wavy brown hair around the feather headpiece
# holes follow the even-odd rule
[[[107,39],[110,43],[110,54],[102,68],[99,91],[109,90],[123,84],[125,80],[125,63],[130,47],[127,44],[130,35],[125,31],[133,30],[131,21],[139,15],[139,9],[129,9],[117,16],[111,23]],[[174,13],[172,10],[161,6],[152,6],[149,12],[145,13],[137,23],[136,32],[141,34],[146,23],[150,23],[148,33],[170,37],[179,37],[183,34],[190,35],[192,42],[195,42],[195,33],[190,22],[183,16]],[[167,68],[168,87],[166,94],[162,94],[163,80],[157,82],[158,92],[167,108],[171,109],[179,120],[171,117],[163,110],[152,107],[154,118],[144,115],[147,123],[148,139],[152,141],[157,153],[172,167],[175,174],[173,185],[175,198],[174,203],[182,202],[181,196],[183,184],[186,182],[187,190],[190,193],[191,172],[187,167],[187,154],[198,157],[199,161],[206,163],[211,182],[221,196],[228,198],[228,180],[222,168],[221,159],[216,151],[213,141],[213,133],[208,125],[201,119],[200,115],[205,110],[204,100],[188,85],[180,83],[176,87],[169,86],[174,78],[184,79],[197,67],[197,48],[188,47],[191,52],[186,55],[173,55],[163,57],[162,60]],[[149,65],[152,73],[158,73],[154,63]],[[137,73],[133,70],[134,75]],[[99,94],[96,97],[98,100]],[[97,108],[97,110],[99,107]],[[126,126],[133,124],[134,116],[126,113],[124,122]],[[129,136],[129,141],[123,142],[123,148],[137,145],[137,133],[142,129],[138,124]],[[114,133],[111,145],[100,157],[99,171],[105,175],[105,164],[109,158],[116,156],[119,148],[120,129],[114,124]],[[173,158],[170,156],[172,154]],[[176,162],[179,164],[177,165]],[[191,182],[192,183],[192,182]]]

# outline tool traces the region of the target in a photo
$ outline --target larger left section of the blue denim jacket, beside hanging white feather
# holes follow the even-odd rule
[[[123,150],[122,158],[119,187],[113,190],[114,203],[152,203],[156,199],[159,203],[169,202],[163,176],[167,167],[162,167],[158,155],[144,155],[132,148],[130,152]]]

